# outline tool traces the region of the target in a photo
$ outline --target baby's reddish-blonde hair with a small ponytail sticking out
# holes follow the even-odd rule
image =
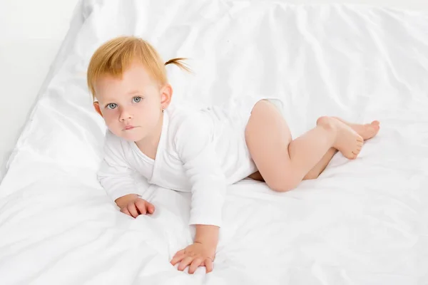
[[[138,61],[148,71],[149,75],[161,86],[168,83],[165,66],[175,64],[179,68],[191,72],[190,68],[183,63],[187,58],[173,58],[163,63],[153,46],[142,38],[135,36],[121,36],[103,43],[93,56],[88,66],[87,83],[91,91],[92,99],[95,100],[95,82],[104,75],[121,78],[133,61]]]

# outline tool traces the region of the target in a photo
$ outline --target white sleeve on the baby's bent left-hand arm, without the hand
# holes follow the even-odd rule
[[[98,180],[113,201],[128,194],[139,194],[133,178],[135,171],[129,167],[124,153],[121,141],[107,132]]]

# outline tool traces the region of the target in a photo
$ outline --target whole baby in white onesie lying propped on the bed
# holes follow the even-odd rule
[[[141,38],[104,43],[88,66],[93,106],[106,122],[105,157],[98,178],[121,212],[137,217],[155,207],[138,195],[134,175],[149,183],[191,192],[195,239],[170,261],[178,270],[213,270],[222,206],[228,185],[250,177],[276,192],[315,179],[335,152],[350,160],[379,122],[347,123],[321,117],[315,128],[292,140],[277,98],[245,98],[239,108],[191,110],[170,105],[173,88],[165,65],[188,70],[184,58],[164,63]]]

